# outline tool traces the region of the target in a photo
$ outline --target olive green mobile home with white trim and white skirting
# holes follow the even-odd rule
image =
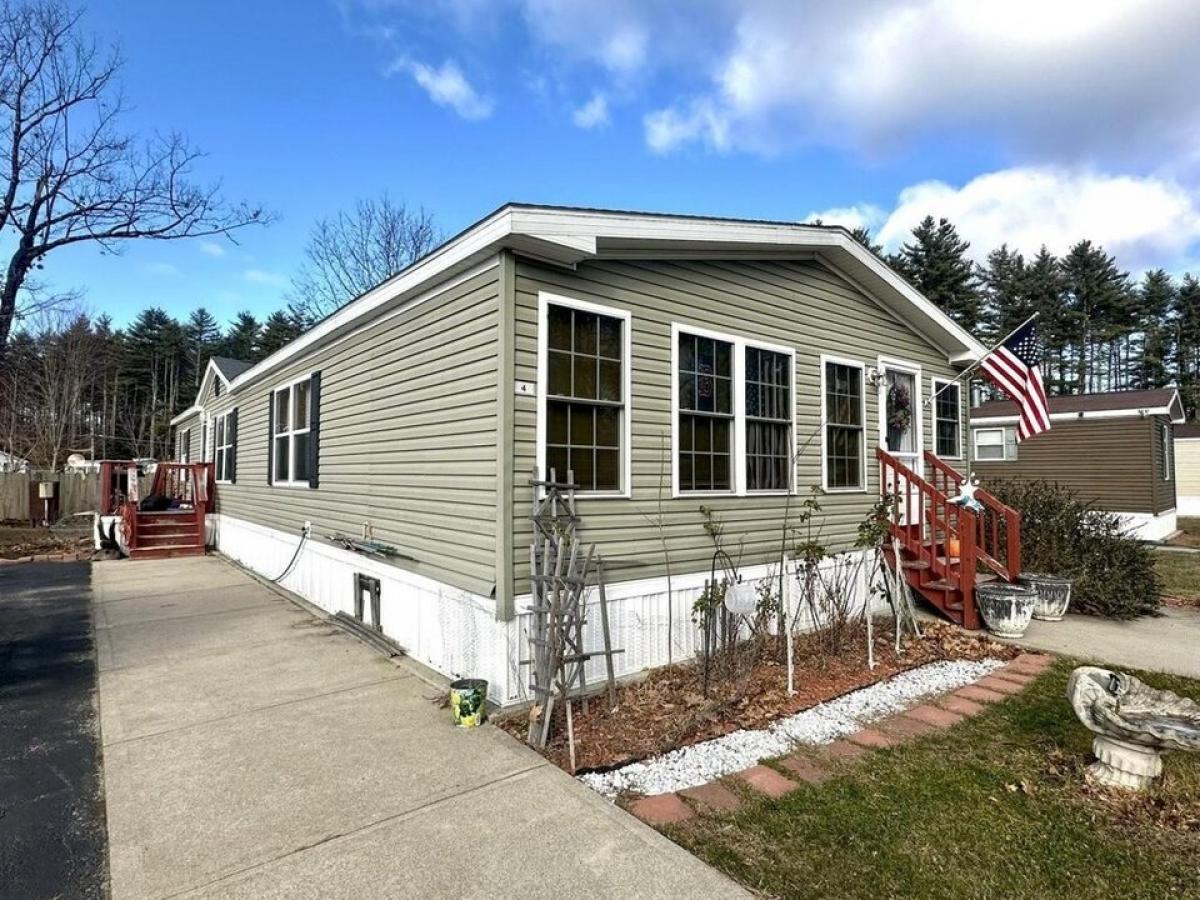
[[[701,505],[746,577],[778,571],[785,509],[814,485],[822,540],[850,547],[876,445],[965,468],[958,385],[922,401],[982,352],[841,228],[506,205],[264,361],[214,360],[174,425],[180,458],[215,462],[222,553],[329,611],[380,578],[388,635],[510,701],[534,467],[582,486],[635,672],[695,650]],[[884,434],[889,394],[912,415]],[[403,558],[326,539],[364,529]]]

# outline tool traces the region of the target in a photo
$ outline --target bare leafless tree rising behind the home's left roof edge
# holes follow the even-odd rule
[[[386,281],[442,240],[433,217],[386,194],[313,227],[305,262],[292,280],[293,313],[314,322]]]

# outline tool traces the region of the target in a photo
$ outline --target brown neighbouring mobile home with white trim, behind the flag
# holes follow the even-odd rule
[[[1183,406],[1174,388],[1050,398],[1050,425],[1016,443],[1016,406],[996,400],[971,410],[974,472],[997,479],[1045,479],[1124,517],[1142,540],[1175,532],[1174,430]]]

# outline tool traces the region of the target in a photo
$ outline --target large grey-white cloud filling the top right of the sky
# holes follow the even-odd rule
[[[709,88],[647,116],[655,150],[877,152],[953,127],[1043,158],[1160,160],[1162,142],[1200,134],[1194,0],[744,0],[732,18]]]

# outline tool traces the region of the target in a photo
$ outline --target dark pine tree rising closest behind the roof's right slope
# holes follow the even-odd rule
[[[889,260],[892,265],[962,328],[977,331],[983,322],[983,302],[974,266],[967,258],[971,245],[948,220],[934,222],[932,216],[925,216],[912,229],[912,236]]]

